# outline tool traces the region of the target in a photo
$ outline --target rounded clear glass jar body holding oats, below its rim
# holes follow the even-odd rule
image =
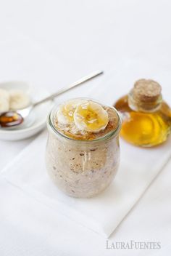
[[[96,140],[74,140],[53,125],[55,107],[47,121],[46,168],[51,180],[69,196],[87,198],[104,191],[117,173],[120,161],[119,124]]]

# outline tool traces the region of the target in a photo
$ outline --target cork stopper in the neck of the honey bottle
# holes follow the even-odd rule
[[[135,101],[141,101],[141,103],[148,104],[156,102],[161,96],[161,91],[162,87],[157,81],[140,79],[135,81],[132,93]]]

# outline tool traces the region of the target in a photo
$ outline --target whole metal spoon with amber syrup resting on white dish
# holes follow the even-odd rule
[[[88,76],[84,76],[82,79],[79,79],[78,81],[75,81],[75,83],[70,84],[67,87],[64,87],[60,89],[58,92],[54,93],[53,95],[50,95],[49,97],[44,98],[43,100],[38,101],[37,103],[33,103],[32,105],[29,105],[27,108],[22,108],[17,111],[8,111],[5,113],[0,114],[0,127],[1,128],[17,128],[20,127],[20,125],[25,121],[25,119],[30,114],[30,111],[33,110],[36,105],[40,105],[41,103],[45,103],[48,100],[53,100],[54,97],[57,97],[59,95],[62,95],[64,92],[69,91],[70,89],[73,89],[75,87],[80,86],[81,84],[85,83],[86,81],[89,81],[96,76],[99,76],[103,73],[103,71],[96,71],[91,73]]]

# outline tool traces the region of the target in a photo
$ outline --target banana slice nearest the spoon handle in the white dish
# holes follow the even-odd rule
[[[26,108],[30,104],[30,97],[20,89],[9,91],[9,108],[12,110]]]

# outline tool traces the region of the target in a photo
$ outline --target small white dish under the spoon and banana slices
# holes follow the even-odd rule
[[[4,89],[22,89],[28,92],[31,97],[31,101],[37,102],[44,97],[49,96],[49,92],[46,89],[31,87],[25,81],[9,81],[0,83],[0,88]],[[41,105],[33,108],[25,124],[22,125],[21,129],[3,129],[0,128],[0,140],[22,140],[27,137],[36,135],[46,125],[46,118],[53,106],[51,101],[42,103]]]

